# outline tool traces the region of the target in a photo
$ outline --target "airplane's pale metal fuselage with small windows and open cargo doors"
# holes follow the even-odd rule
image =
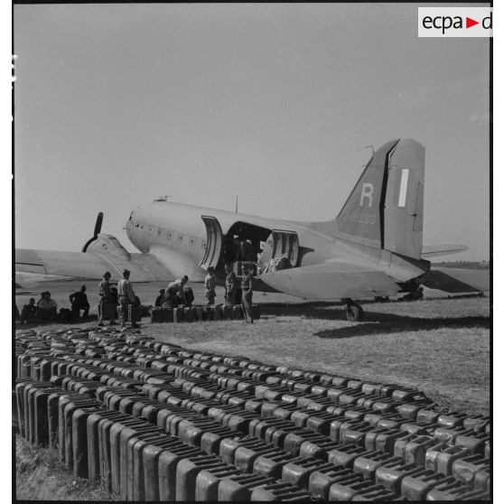
[[[224,264],[229,262],[226,244],[233,237],[236,239],[238,229],[242,230],[245,238],[256,244],[254,254],[259,251],[259,242],[261,252],[268,252],[268,243],[274,230],[280,238],[295,237],[297,250],[293,267],[350,260],[352,264],[360,266],[379,265],[380,269],[399,283],[422,275],[428,269],[427,261],[414,261],[387,250],[339,238],[334,220],[301,223],[171,201],[153,201],[133,210],[126,221],[126,235],[141,252],[154,254],[163,266],[173,272],[174,277],[185,274],[189,275],[191,281],[202,281],[208,263],[201,263],[207,256],[208,247],[215,247],[203,217],[214,219],[219,224],[222,242],[217,252],[218,257],[214,257],[211,263],[216,268],[219,283],[224,277]],[[271,243],[269,247],[272,247]],[[287,253],[285,247],[284,250]]]

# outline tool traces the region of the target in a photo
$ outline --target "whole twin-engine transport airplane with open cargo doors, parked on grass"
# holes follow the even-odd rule
[[[201,282],[212,266],[223,285],[225,264],[238,275],[249,264],[255,290],[339,299],[352,322],[363,318],[355,300],[411,293],[421,284],[452,293],[488,291],[486,278],[431,269],[430,257],[468,247],[423,245],[424,178],[425,147],[413,139],[392,140],[373,152],[334,219],[269,219],[165,197],[138,206],[126,221],[126,235],[139,253],[101,233],[100,212],[81,252],[16,249],[15,270],[89,279],[108,270],[118,280],[127,268],[134,282],[181,275]]]

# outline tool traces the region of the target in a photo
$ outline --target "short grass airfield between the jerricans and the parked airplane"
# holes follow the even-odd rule
[[[17,289],[21,308],[50,290],[59,306],[79,281],[57,281]],[[135,284],[145,304],[163,284]],[[202,285],[193,284],[196,302]],[[89,302],[96,305],[96,285]],[[425,293],[437,295],[436,292]],[[218,292],[218,302],[222,293]],[[152,324],[142,330],[159,341],[191,350],[244,355],[267,364],[314,369],[352,378],[417,387],[440,405],[464,412],[489,412],[490,303],[488,298],[430,298],[409,303],[362,303],[364,322],[347,322],[340,303],[303,301],[285,294],[254,294],[261,319]],[[93,325],[88,322],[84,325]],[[52,326],[43,326],[51,328]],[[54,326],[61,328],[64,326]]]

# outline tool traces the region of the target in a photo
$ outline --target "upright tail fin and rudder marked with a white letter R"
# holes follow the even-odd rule
[[[373,154],[336,218],[340,238],[420,259],[425,147],[393,140]]]

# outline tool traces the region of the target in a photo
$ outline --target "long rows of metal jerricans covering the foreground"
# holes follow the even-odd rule
[[[16,434],[120,499],[490,499],[490,418],[412,388],[112,328],[18,331],[15,361]]]

